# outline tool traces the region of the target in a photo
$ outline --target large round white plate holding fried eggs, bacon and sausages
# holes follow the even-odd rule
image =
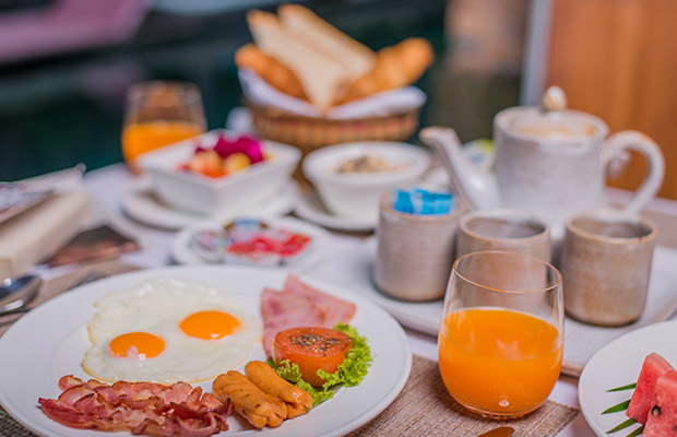
[[[170,275],[204,282],[224,290],[252,314],[258,315],[264,286],[282,288],[286,273],[244,267],[173,267],[143,270],[100,280],[64,293],[32,310],[0,338],[0,404],[20,423],[38,435],[59,437],[128,436],[74,429],[48,418],[38,398],[57,398],[62,375],[88,379],[81,366],[90,346],[86,324],[95,314],[94,302],[108,292],[133,286],[151,277]],[[334,399],[308,414],[286,421],[277,428],[242,429],[236,417],[228,418],[231,436],[341,436],[358,428],[382,412],[408,379],[412,354],[404,331],[385,311],[368,299],[342,287],[308,280],[310,285],[357,305],[351,324],[371,346],[373,362],[357,387],[342,388]],[[259,344],[250,359],[265,359]],[[244,366],[241,366],[244,368]],[[240,368],[241,370],[241,368]],[[200,385],[211,392],[212,381]]]

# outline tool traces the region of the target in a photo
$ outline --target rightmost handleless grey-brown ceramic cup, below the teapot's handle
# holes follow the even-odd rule
[[[594,210],[566,222],[561,273],[565,310],[575,319],[620,326],[646,304],[656,227],[617,210]]]

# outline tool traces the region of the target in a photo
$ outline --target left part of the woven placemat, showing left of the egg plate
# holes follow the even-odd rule
[[[48,300],[79,284],[83,277],[112,276],[115,274],[131,272],[138,270],[135,265],[122,263],[120,261],[103,261],[91,263],[61,276],[46,281],[40,287],[38,295],[28,305],[34,308],[45,300]],[[5,316],[0,318],[0,336],[10,326],[23,315]],[[14,421],[2,406],[0,406],[0,437],[36,437],[35,434],[23,427],[19,422]]]

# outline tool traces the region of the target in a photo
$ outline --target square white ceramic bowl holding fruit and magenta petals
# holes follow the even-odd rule
[[[179,169],[193,156],[198,144],[215,144],[221,132],[213,130],[140,156],[139,165],[162,201],[200,214],[253,204],[287,184],[301,156],[294,146],[263,141],[264,153],[272,157],[230,175],[212,178]]]

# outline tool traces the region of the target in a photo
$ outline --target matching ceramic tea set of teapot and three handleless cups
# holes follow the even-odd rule
[[[424,129],[420,138],[438,152],[470,212],[424,220],[382,202],[377,286],[405,300],[441,298],[461,256],[512,251],[560,268],[570,316],[603,326],[637,320],[656,236],[639,211],[661,187],[663,154],[642,133],[608,137],[604,121],[565,106],[561,90],[548,90],[543,107],[499,113],[494,174],[468,162],[452,129]],[[627,150],[644,156],[646,176],[627,205],[610,209],[604,198],[606,168]]]

